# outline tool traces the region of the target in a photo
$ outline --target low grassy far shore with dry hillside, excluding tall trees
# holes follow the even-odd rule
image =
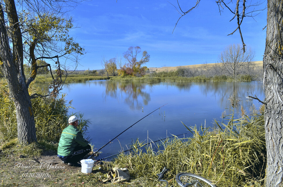
[[[105,70],[85,70],[74,71],[71,74],[67,72],[62,76],[65,83],[84,82],[89,80],[111,80],[111,81],[140,81],[140,82],[208,82],[208,81],[226,81],[226,82],[244,82],[258,80],[262,81],[262,61],[250,62],[249,66],[236,76],[228,74],[221,63],[188,65],[176,67],[147,68],[142,76],[106,76]],[[55,72],[53,73],[55,74]],[[65,73],[66,74],[66,73]],[[114,73],[117,75],[118,73]],[[26,74],[28,75],[28,73]],[[28,76],[27,76],[28,77]],[[37,75],[35,83],[51,82],[50,72]]]

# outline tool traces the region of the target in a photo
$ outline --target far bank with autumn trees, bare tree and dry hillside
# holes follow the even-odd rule
[[[147,51],[142,52],[140,60],[137,60],[137,55],[141,52],[141,48],[130,47],[128,51],[120,55],[106,60],[105,56],[102,57],[101,70],[85,70],[84,72],[75,72],[76,74],[83,74],[87,76],[152,76],[152,77],[221,77],[225,80],[228,77],[232,79],[241,79],[245,77],[245,80],[262,80],[263,70],[261,66],[256,65],[253,62],[255,52],[248,48],[245,53],[240,44],[231,44],[225,48],[219,55],[217,63],[204,63],[196,65],[195,67],[178,66],[174,71],[162,71],[157,72],[155,70],[149,70],[144,65],[149,61],[150,55]]]

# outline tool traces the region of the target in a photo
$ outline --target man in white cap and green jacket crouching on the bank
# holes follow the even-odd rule
[[[57,150],[57,156],[64,163],[76,167],[81,167],[78,162],[91,151],[89,142],[83,138],[82,132],[77,128],[79,119],[76,116],[69,118],[69,125],[61,134]]]

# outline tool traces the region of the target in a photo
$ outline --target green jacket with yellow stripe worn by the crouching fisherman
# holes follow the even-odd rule
[[[67,126],[60,137],[57,154],[69,156],[74,152],[75,147],[81,145],[85,147],[88,141],[83,138],[82,132],[73,125]]]

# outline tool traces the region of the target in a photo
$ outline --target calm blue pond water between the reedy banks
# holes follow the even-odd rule
[[[213,126],[213,119],[220,120],[222,112],[231,113],[229,97],[234,90],[240,104],[249,112],[252,104],[258,109],[257,100],[248,101],[246,96],[256,95],[264,100],[262,83],[252,81],[201,82],[201,83],[138,83],[106,80],[70,83],[63,92],[75,109],[91,121],[88,136],[99,149],[129,126],[155,112],[129,128],[103,149],[100,158],[129,148],[132,140],[152,141],[168,136],[187,133],[187,126]],[[240,112],[240,107],[236,108]],[[238,115],[237,115],[238,116]],[[181,122],[182,121],[182,122]],[[190,136],[186,134],[185,136]],[[181,136],[182,137],[182,136]],[[127,147],[127,146],[128,147]]]

